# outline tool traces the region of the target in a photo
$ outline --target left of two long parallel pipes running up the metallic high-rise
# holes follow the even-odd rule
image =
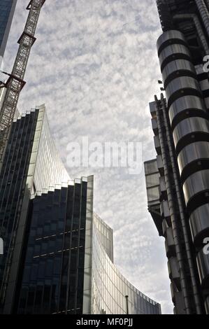
[[[171,181],[169,179],[169,169],[168,169],[168,158],[166,155],[166,146],[165,146],[165,141],[164,141],[164,138],[162,135],[162,128],[161,128],[162,124],[161,124],[161,118],[160,118],[159,106],[158,106],[159,101],[157,99],[157,96],[155,96],[154,98],[155,98],[155,102],[157,104],[156,114],[157,114],[157,124],[158,124],[158,129],[159,129],[159,140],[160,140],[160,144],[161,144],[161,153],[162,153],[162,159],[163,159],[163,164],[164,164],[164,173],[165,173],[166,189],[167,189],[167,194],[168,194],[168,204],[169,204],[171,222],[172,222],[172,227],[173,227],[173,239],[174,239],[174,243],[175,243],[175,252],[176,252],[176,257],[178,259],[178,264],[179,264],[179,269],[180,269],[180,282],[181,282],[181,287],[182,287],[182,295],[183,295],[184,301],[185,301],[186,314],[192,314],[191,301],[189,299],[189,287],[188,287],[187,275],[186,275],[186,271],[185,271],[185,258],[183,257],[183,253],[182,253],[181,237],[180,237],[180,232],[178,229],[178,218],[176,216],[175,204],[173,202]]]

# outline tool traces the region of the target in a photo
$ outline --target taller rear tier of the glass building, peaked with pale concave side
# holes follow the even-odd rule
[[[0,172],[1,311],[9,312],[13,304],[31,196],[68,180],[50,136],[45,106],[14,120]]]

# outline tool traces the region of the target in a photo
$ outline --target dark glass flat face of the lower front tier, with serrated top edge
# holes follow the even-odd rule
[[[85,242],[92,182],[91,177],[75,180],[37,193],[31,201],[18,314],[82,314],[84,290],[88,295]]]

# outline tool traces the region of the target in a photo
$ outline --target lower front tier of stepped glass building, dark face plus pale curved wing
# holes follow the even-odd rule
[[[14,313],[160,314],[113,264],[113,230],[94,213],[93,190],[89,176],[31,200]]]

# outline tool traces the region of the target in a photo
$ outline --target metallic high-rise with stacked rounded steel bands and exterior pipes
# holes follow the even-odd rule
[[[209,1],[157,0],[165,95],[150,103],[148,209],[165,237],[176,314],[209,314]],[[159,81],[161,83],[161,81]]]

